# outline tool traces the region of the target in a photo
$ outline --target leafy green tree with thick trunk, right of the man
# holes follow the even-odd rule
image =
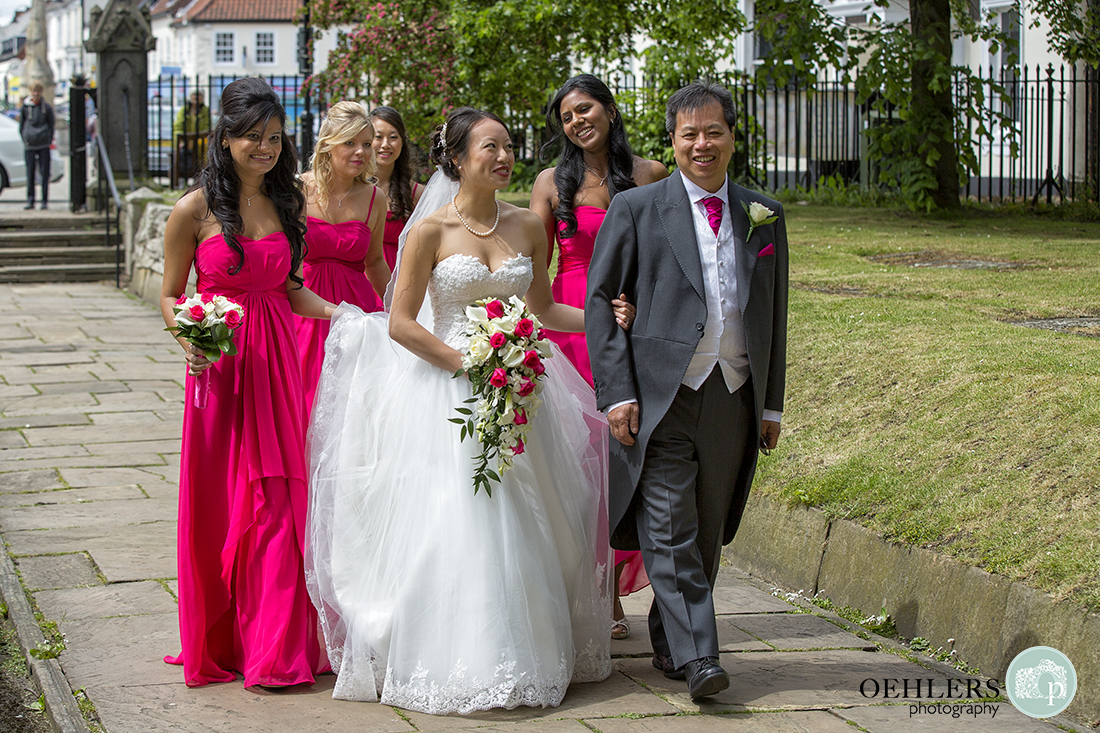
[[[758,0],[754,30],[771,44],[758,83],[796,80],[812,92],[816,72],[832,67],[856,89],[877,183],[913,209],[952,208],[963,177],[978,169],[976,140],[1011,123],[1004,88],[953,65],[952,43],[966,37],[994,52],[1008,47],[1012,57],[1015,50],[991,18],[971,18],[968,0],[949,0],[949,19],[943,0],[932,21],[915,23],[912,14],[930,0],[909,4],[904,22],[872,14],[865,25],[845,26],[814,0]]]

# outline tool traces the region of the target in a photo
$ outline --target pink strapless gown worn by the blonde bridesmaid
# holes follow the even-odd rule
[[[306,244],[308,250],[301,267],[306,287],[330,303],[339,305],[348,302],[367,313],[382,310],[382,299],[363,273],[363,261],[371,249],[371,228],[366,222],[355,219],[334,225],[309,217]],[[329,321],[295,316],[294,325],[298,332],[298,355],[301,359],[301,382],[308,413],[314,405],[314,393],[324,361]]]

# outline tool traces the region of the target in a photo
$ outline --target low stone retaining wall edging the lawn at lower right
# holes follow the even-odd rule
[[[1003,680],[1019,653],[1052,646],[1077,670],[1077,694],[1067,712],[1090,723],[1100,720],[1100,614],[761,492],[750,494],[724,556],[807,597],[821,593],[868,615],[886,609],[902,636],[954,648],[987,677]]]

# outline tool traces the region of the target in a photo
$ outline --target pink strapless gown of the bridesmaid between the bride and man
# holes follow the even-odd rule
[[[584,307],[584,296],[588,292],[588,263],[592,261],[592,247],[596,242],[596,232],[607,214],[595,206],[578,206],[576,233],[562,239],[561,232],[565,222],[558,222],[558,274],[550,284],[553,299],[557,303]],[[547,330],[547,337],[561,347],[562,353],[573,362],[581,376],[592,384],[592,363],[588,361],[588,347],[584,333],[564,333]],[[625,565],[624,565],[625,564]],[[649,584],[646,567],[641,561],[641,553],[637,550],[615,550],[615,565],[623,565],[619,577],[619,595],[628,595]]]

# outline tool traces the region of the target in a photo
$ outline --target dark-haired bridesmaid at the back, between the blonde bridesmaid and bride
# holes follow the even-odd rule
[[[397,260],[397,238],[405,229],[405,222],[420,200],[424,186],[413,180],[411,151],[405,120],[393,107],[375,107],[371,110],[374,125],[374,160],[378,188],[386,192],[389,209],[386,211],[386,231],[382,238],[386,264],[393,271]]]

